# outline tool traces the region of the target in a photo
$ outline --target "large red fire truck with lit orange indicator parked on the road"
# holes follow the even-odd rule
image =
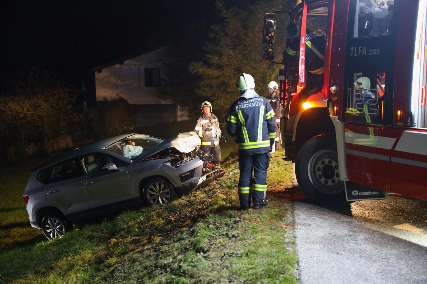
[[[274,33],[284,31],[276,31],[283,12],[265,15],[270,62],[281,63],[274,46],[285,43]],[[314,201],[391,192],[427,200],[427,0],[302,0],[287,13],[301,37],[278,76],[282,146],[304,193]],[[316,29],[326,33],[323,87],[298,108],[306,32]]]

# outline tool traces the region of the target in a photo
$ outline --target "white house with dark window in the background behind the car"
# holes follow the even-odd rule
[[[136,125],[156,125],[187,120],[185,107],[162,95],[165,66],[158,58],[166,47],[116,61],[95,69],[97,100],[120,95],[137,109]]]

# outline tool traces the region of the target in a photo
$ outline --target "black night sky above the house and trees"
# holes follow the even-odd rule
[[[188,24],[209,27],[211,7],[213,1],[196,0],[8,1],[1,9],[0,83],[4,89],[25,65],[70,76],[170,44]]]

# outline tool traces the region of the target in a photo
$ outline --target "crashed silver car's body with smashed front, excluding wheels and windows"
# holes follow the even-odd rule
[[[91,143],[35,168],[23,194],[28,196],[26,210],[31,225],[40,229],[41,218],[51,210],[59,210],[68,221],[73,222],[93,214],[97,215],[112,206],[123,208],[129,204],[141,204],[140,189],[144,181],[150,177],[166,178],[173,185],[175,192],[183,195],[223,174],[219,174],[217,170],[205,173],[204,161],[194,155],[185,155],[200,147],[200,138],[195,132],[179,133],[167,140],[159,139],[162,142],[143,151],[135,159],[128,159],[106,149],[132,135],[136,134],[115,136]],[[169,151],[168,149],[173,151],[175,156],[181,153],[184,158],[172,165],[171,157],[159,154],[162,151]],[[52,174],[55,165],[64,161],[78,163],[79,157],[91,153],[106,154],[116,161],[120,160],[119,164],[123,162],[123,165],[114,171],[101,171],[95,174],[82,172],[78,177],[58,182],[52,182],[50,179],[50,182],[43,183],[38,179],[42,171]]]

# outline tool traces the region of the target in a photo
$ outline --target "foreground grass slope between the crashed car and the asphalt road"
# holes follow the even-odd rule
[[[0,272],[18,283],[295,282],[290,165],[272,159],[270,205],[260,211],[236,211],[239,171],[231,164],[222,179],[166,206],[77,224],[62,239],[3,252]]]

